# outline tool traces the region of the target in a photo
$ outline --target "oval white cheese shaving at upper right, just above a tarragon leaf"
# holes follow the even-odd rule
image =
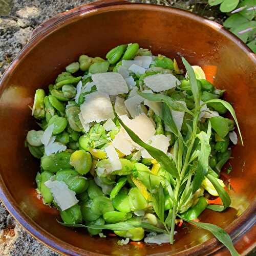
[[[148,88],[154,92],[162,92],[180,85],[180,81],[172,74],[155,74],[144,78]]]

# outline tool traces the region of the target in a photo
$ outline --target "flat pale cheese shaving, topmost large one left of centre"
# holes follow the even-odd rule
[[[98,92],[108,95],[128,93],[128,87],[123,77],[116,72],[106,72],[92,75]]]

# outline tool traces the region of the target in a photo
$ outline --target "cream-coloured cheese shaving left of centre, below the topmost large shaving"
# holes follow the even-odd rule
[[[87,94],[80,109],[84,123],[99,123],[115,117],[109,95],[102,92]]]

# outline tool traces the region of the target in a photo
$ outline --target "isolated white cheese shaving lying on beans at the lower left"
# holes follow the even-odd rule
[[[51,190],[54,201],[61,210],[67,210],[79,202],[76,193],[70,190],[65,182],[48,180],[45,185]]]

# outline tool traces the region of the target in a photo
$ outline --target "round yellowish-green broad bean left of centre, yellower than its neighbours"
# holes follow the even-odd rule
[[[92,167],[92,157],[88,152],[77,150],[72,153],[70,164],[74,166],[79,174],[87,174]]]

